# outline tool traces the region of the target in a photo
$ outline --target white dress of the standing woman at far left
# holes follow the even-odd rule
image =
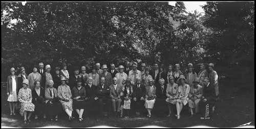
[[[7,82],[9,82],[10,81],[9,78],[12,79],[11,80],[12,83],[11,84],[8,83],[8,87],[7,87],[7,88],[12,87],[12,92],[9,93],[9,96],[7,98],[8,102],[17,102],[18,101],[17,92],[16,92],[18,85],[17,85],[17,82],[15,80],[16,77],[17,76],[11,76],[11,77],[9,76],[8,80],[7,80]]]

